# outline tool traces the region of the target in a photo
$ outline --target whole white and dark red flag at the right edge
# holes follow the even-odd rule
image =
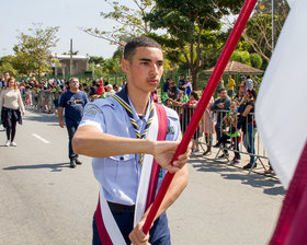
[[[263,147],[287,194],[270,244],[307,244],[307,1],[291,12],[255,104]]]

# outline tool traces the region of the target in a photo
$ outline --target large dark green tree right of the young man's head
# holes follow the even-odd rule
[[[156,0],[156,8],[146,15],[154,30],[166,30],[166,47],[183,54],[191,71],[193,88],[204,66],[202,51],[209,49],[212,39],[221,37],[221,19],[237,13],[242,0]],[[161,42],[160,42],[161,43]]]

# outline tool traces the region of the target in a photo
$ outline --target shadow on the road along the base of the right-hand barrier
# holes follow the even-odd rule
[[[209,159],[192,159],[190,163],[196,171],[218,173],[225,179],[240,180],[243,185],[262,188],[266,195],[277,196],[285,194],[280,180],[271,176],[257,172],[248,175],[248,172],[241,167],[227,165],[226,162],[214,162],[214,160]]]

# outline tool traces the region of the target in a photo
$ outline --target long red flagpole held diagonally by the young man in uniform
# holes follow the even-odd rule
[[[225,47],[221,51],[221,55],[219,56],[219,59],[215,66],[215,69],[209,78],[209,81],[201,97],[201,101],[198,102],[197,107],[195,108],[195,112],[191,118],[191,121],[177,149],[177,152],[173,156],[172,162],[178,160],[178,156],[183,154],[186,151],[187,145],[189,145],[194,132],[196,131],[197,125],[201,121],[204,112],[206,110],[208,102],[209,102],[211,97],[213,96],[214,91],[217,88],[217,84],[221,78],[221,74],[241,37],[241,34],[248,23],[249,16],[250,16],[255,3],[257,3],[257,0],[246,0],[245,4],[242,7],[242,10],[239,14],[239,18],[235,24],[235,27],[231,31],[231,33],[225,44]],[[157,197],[151,206],[151,209],[147,215],[147,219],[144,223],[143,232],[145,234],[148,234],[148,232],[149,232],[149,229],[155,220],[155,217],[157,215],[157,212],[158,212],[160,205],[167,194],[167,190],[173,179],[173,176],[174,176],[174,174],[168,173],[162,182],[162,185],[158,191],[158,195],[157,195]]]

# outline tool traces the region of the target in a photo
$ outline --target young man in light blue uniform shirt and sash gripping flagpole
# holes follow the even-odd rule
[[[122,69],[127,74],[127,85],[113,97],[87,105],[72,140],[77,153],[93,158],[94,176],[101,184],[93,244],[168,245],[164,211],[187,184],[185,163],[191,147],[171,164],[181,135],[179,117],[170,108],[155,106],[150,96],[163,73],[159,44],[144,36],[128,42]],[[155,164],[162,168],[152,174]],[[149,235],[145,235],[141,228],[150,210],[150,186],[156,184],[155,197],[167,171],[175,176]]]

